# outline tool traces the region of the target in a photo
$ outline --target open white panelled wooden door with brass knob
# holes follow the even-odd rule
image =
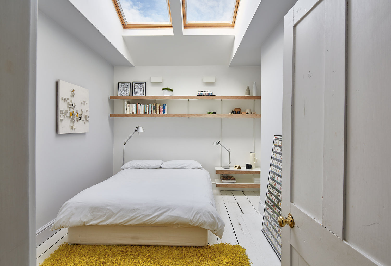
[[[347,6],[299,0],[285,16],[282,266],[391,262],[391,2]]]

